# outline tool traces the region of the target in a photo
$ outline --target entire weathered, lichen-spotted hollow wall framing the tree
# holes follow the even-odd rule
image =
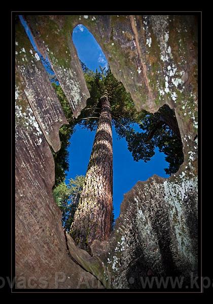
[[[135,107],[174,108],[184,163],[127,193],[113,233],[93,256],[64,235],[52,197],[63,111],[16,19],[16,288],[143,288],[141,277],[197,275],[196,16],[25,16],[77,117],[89,92],[72,42],[84,24]],[[23,279],[24,278],[24,279]],[[33,278],[33,279],[32,279]],[[33,281],[33,283],[32,283]]]

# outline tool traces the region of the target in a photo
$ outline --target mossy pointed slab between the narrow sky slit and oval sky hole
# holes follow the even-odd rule
[[[77,118],[90,97],[66,16],[26,16],[35,41],[47,56]]]

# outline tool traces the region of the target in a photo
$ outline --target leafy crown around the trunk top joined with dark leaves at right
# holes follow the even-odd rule
[[[158,147],[169,163],[165,172],[175,173],[183,163],[183,146],[174,110],[164,105],[154,114],[145,110],[137,112],[130,93],[115,79],[110,67],[107,70],[100,67],[100,72],[93,72],[82,63],[82,68],[91,97],[79,117],[80,125],[95,130],[100,115],[99,100],[107,91],[112,122],[119,138],[126,139],[133,159],[148,162],[155,155],[155,147]],[[134,131],[135,123],[141,128],[141,132]]]

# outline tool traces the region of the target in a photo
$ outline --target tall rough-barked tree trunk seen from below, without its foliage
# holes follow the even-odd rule
[[[113,209],[112,118],[108,94],[101,97],[101,112],[79,205],[70,228],[77,246],[91,253],[95,240],[111,233]]]

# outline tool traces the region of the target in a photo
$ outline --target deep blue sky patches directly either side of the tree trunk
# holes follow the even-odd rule
[[[140,130],[141,131],[141,130]],[[85,175],[92,151],[95,131],[90,132],[80,126],[76,127],[76,132],[70,139],[69,151],[69,171],[67,180],[75,178],[76,175]],[[140,160],[135,162],[132,154],[127,149],[124,138],[117,139],[115,128],[113,127],[113,205],[115,218],[120,214],[120,205],[123,195],[127,193],[138,180],[147,180],[153,174],[168,177],[164,168],[167,167],[165,155],[156,153],[151,161],[145,163]]]

